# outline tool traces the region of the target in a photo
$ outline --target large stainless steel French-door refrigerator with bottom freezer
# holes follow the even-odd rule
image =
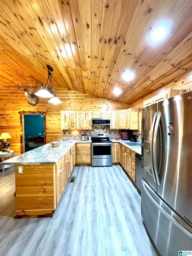
[[[192,251],[192,92],[142,109],[141,214],[162,256]]]

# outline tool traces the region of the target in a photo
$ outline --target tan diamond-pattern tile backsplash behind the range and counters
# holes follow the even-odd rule
[[[81,134],[86,134],[91,136],[91,134],[95,134],[95,126],[92,125],[91,130],[62,130],[62,137],[63,138],[77,138],[81,136]],[[102,133],[102,132],[99,132]],[[110,126],[106,125],[106,131],[104,133],[109,133],[110,138],[121,137],[120,133],[121,130],[110,130]]]

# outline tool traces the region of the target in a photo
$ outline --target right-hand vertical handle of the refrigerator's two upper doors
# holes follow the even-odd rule
[[[157,164],[157,138],[158,138],[158,129],[159,129],[160,120],[161,120],[161,112],[158,112],[157,120],[155,123],[155,129],[154,129],[154,137],[153,137],[153,164],[154,164],[155,177],[158,185],[160,185],[160,179],[159,179],[158,164]]]

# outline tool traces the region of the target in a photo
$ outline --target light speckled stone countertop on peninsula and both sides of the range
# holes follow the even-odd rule
[[[116,140],[110,139],[112,142],[120,142],[124,146],[130,148],[136,153],[141,155],[141,148],[132,148],[125,144],[125,140]],[[13,158],[7,159],[1,164],[13,164],[13,165],[27,165],[27,164],[56,164],[66,153],[67,151],[75,145],[75,143],[91,143],[91,140],[80,140],[78,139],[64,139],[64,140],[55,140],[59,141],[59,147],[52,147],[51,143],[47,143],[36,149],[32,149],[21,155],[17,155]]]

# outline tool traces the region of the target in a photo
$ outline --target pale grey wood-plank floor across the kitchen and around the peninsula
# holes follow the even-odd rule
[[[74,167],[72,176],[53,218],[14,219],[14,171],[0,173],[1,256],[157,255],[119,165]]]

